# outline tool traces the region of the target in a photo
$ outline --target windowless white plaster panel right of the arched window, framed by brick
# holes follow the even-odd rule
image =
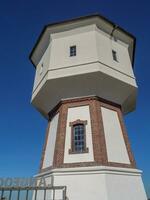
[[[101,110],[108,161],[130,164],[117,112],[104,107]]]

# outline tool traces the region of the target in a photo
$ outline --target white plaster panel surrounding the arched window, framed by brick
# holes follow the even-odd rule
[[[85,127],[86,147],[89,149],[89,152],[80,154],[69,154],[69,149],[71,148],[71,127],[69,126],[69,123],[76,121],[77,119],[87,120],[87,125]],[[66,124],[64,163],[92,162],[92,161],[94,161],[94,156],[93,156],[89,106],[79,106],[79,107],[69,108],[67,115],[67,124]]]

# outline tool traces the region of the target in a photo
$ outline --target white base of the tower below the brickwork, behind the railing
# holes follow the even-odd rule
[[[114,167],[54,169],[38,174],[67,187],[67,200],[147,200],[141,171]]]

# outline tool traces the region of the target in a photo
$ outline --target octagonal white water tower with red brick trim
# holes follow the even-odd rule
[[[68,200],[146,200],[123,116],[135,109],[135,37],[100,15],[44,27],[30,59],[48,120],[38,176]]]

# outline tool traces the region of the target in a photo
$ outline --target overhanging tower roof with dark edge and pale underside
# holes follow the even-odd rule
[[[50,42],[51,34],[64,32],[71,29],[88,26],[91,24],[95,24],[99,29],[103,30],[110,36],[114,36],[115,38],[128,44],[130,59],[132,61],[132,66],[134,66],[136,38],[131,33],[124,30],[123,28],[121,28],[120,26],[118,26],[117,24],[113,23],[112,21],[103,17],[100,14],[82,16],[66,21],[45,25],[40,36],[38,37],[35,46],[33,47],[30,53],[29,58],[32,64],[35,67],[38,64],[37,58],[43,55],[45,49],[47,48]]]

